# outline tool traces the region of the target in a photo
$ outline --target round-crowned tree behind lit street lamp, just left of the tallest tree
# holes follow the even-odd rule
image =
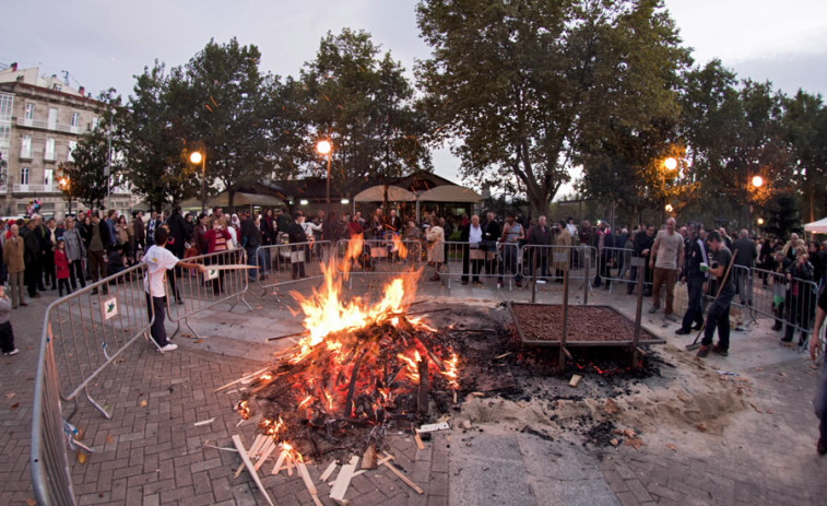
[[[413,107],[404,69],[390,52],[381,59],[379,52],[368,33],[344,28],[328,33],[316,59],[302,69],[308,151],[319,139],[332,141],[331,177],[338,183],[432,168],[422,139],[427,125]],[[323,172],[321,164],[310,167]]]

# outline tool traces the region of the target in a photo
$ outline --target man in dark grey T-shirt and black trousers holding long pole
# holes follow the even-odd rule
[[[704,339],[700,341],[700,350],[698,350],[698,357],[700,358],[707,356],[710,350],[722,356],[729,355],[730,304],[735,296],[735,282],[732,279],[732,273],[726,272],[732,262],[732,252],[724,246],[721,234],[717,231],[707,234],[707,244],[712,262],[708,271],[718,278],[721,289],[719,289],[718,296],[707,314],[707,327],[704,331]],[[718,344],[712,346],[716,328],[718,329]]]

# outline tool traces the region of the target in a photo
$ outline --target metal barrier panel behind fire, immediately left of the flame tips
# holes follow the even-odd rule
[[[263,295],[275,286],[321,278],[321,266],[332,254],[330,240],[261,246],[255,258],[248,258],[258,270],[247,275]]]

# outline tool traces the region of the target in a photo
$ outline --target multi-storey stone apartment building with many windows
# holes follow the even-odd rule
[[[99,120],[102,103],[40,69],[0,70],[0,215],[22,216],[38,201],[40,214],[62,217],[70,202],[60,189],[59,165],[72,161],[78,139]],[[121,212],[133,205],[128,188],[113,188],[110,207]],[[85,209],[71,202],[71,212]]]

